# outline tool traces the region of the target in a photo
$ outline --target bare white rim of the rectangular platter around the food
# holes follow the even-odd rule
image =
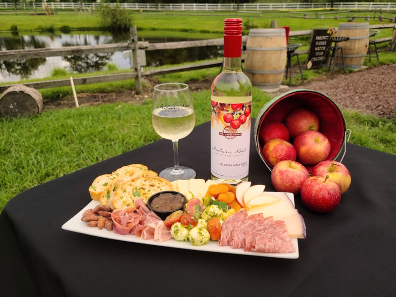
[[[271,192],[265,192],[270,194]],[[273,192],[275,194],[276,192]],[[294,196],[291,193],[286,193],[288,197],[294,203]],[[231,253],[231,254],[241,254],[241,255],[251,255],[251,256],[261,256],[261,257],[273,257],[273,258],[285,258],[285,259],[297,259],[298,258],[298,242],[297,238],[292,238],[292,242],[294,247],[296,248],[295,252],[290,253],[266,253],[266,252],[254,252],[254,251],[244,251],[243,248],[232,248],[232,247],[224,247],[218,246],[217,241],[210,241],[208,244],[203,246],[193,246],[189,242],[179,242],[174,239],[168,240],[166,242],[159,243],[153,239],[143,240],[140,237],[137,237],[133,234],[131,235],[120,235],[115,234],[113,231],[98,229],[96,227],[87,226],[86,222],[81,220],[83,216],[83,212],[87,209],[94,208],[98,205],[98,201],[92,200],[88,203],[83,209],[81,209],[75,216],[73,216],[70,220],[63,224],[62,229],[77,233],[82,233],[91,236],[97,236],[112,240],[120,240],[131,243],[145,244],[145,245],[153,245],[160,247],[174,247],[174,248],[184,248],[184,249],[192,249],[192,250],[201,250],[201,251],[209,251],[209,252],[222,252],[222,253]]]

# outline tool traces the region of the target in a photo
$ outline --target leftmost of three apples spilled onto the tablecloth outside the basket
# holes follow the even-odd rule
[[[309,178],[308,170],[292,160],[280,161],[271,172],[272,185],[278,192],[300,193],[302,184]]]

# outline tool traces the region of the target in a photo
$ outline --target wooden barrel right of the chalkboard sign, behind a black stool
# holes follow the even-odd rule
[[[369,44],[368,23],[340,23],[337,37],[349,37],[349,40],[338,45],[343,49],[344,64],[346,67],[360,68],[367,55]],[[337,53],[336,66],[342,66],[341,53]]]

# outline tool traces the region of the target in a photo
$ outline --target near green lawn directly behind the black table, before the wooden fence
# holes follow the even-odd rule
[[[197,125],[210,120],[209,98],[209,90],[193,93]],[[254,88],[253,117],[270,99]],[[0,210],[24,190],[159,139],[150,114],[148,100],[1,118]],[[350,143],[396,154],[395,120],[347,110],[343,114],[352,130]]]

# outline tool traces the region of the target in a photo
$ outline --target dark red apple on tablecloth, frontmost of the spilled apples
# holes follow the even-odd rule
[[[333,210],[341,200],[340,187],[329,176],[311,176],[301,186],[301,200],[305,206],[317,213]]]

